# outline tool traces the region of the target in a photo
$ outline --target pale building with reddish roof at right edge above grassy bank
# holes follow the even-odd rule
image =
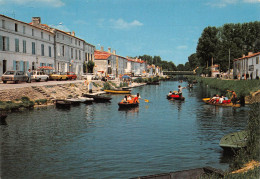
[[[233,76],[238,79],[259,78],[259,56],[260,52],[249,52],[247,56],[235,59],[233,62]]]

